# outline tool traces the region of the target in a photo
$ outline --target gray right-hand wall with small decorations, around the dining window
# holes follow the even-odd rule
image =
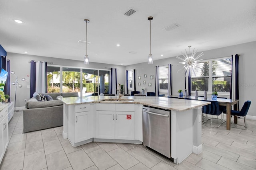
[[[200,49],[198,49],[200,50]],[[199,54],[199,53],[198,53]],[[248,111],[248,115],[256,116],[256,79],[255,79],[255,63],[256,63],[256,41],[250,43],[244,43],[239,45],[233,45],[229,47],[223,47],[220,49],[213,49],[204,51],[204,55],[201,59],[216,59],[221,57],[228,57],[233,54],[240,54],[239,57],[239,106],[242,108],[246,100],[251,100],[252,105]],[[154,52],[153,52],[154,57]],[[147,61],[147,57],[145,57]],[[155,66],[172,64],[172,93],[177,94],[179,89],[185,89],[185,77],[181,72],[177,73],[182,66],[177,66],[180,62],[176,59],[176,56],[170,56],[167,59],[161,59],[154,61],[154,64],[139,63],[126,66],[126,70],[136,69],[136,90],[142,91],[141,87],[146,87],[146,92],[154,92],[155,81],[150,80],[149,75],[155,77]],[[148,78],[143,78],[144,74],[148,74]],[[141,80],[138,80],[138,76],[142,76]],[[138,82],[146,80],[146,86],[143,84],[138,87]],[[152,82],[152,86],[148,86],[148,82]]]

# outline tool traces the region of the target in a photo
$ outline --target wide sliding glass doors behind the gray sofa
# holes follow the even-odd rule
[[[48,93],[78,92],[82,96],[109,93],[110,70],[48,65],[47,71]]]

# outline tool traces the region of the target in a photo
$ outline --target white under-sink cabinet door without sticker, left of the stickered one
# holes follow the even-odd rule
[[[114,111],[96,111],[96,138],[115,139],[114,119]]]

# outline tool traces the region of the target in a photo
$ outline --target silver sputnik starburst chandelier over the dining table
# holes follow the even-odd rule
[[[191,71],[194,73],[194,75],[196,75],[194,70],[196,70],[198,72],[197,68],[200,70],[202,70],[202,68],[196,66],[195,63],[203,60],[203,59],[200,59],[200,60],[198,60],[198,59],[199,59],[199,57],[202,57],[202,55],[204,55],[203,54],[204,52],[200,53],[197,57],[195,57],[197,50],[195,51],[195,49],[193,49],[192,53],[190,54],[191,45],[189,45],[188,47],[189,47],[189,53],[187,53],[186,49],[185,49],[185,54],[181,52],[184,59],[182,59],[178,56],[176,57],[177,59],[180,59],[183,61],[183,62],[179,62],[180,64],[177,64],[177,65],[182,65],[182,64],[184,65],[180,70],[183,70],[182,72],[186,72],[186,76],[188,76],[189,72],[191,72]],[[180,70],[178,70],[177,72],[179,72]]]

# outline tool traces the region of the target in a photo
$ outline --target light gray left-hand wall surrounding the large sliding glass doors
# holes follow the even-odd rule
[[[34,55],[24,55],[16,53],[7,53],[7,59],[10,60],[10,70],[15,71],[16,76],[18,76],[18,82],[23,85],[22,88],[17,88],[16,94],[16,107],[24,106],[24,99],[30,98],[30,88],[27,88],[30,85],[30,63],[28,61],[47,61],[51,62],[54,65],[60,66],[75,66],[80,68],[94,68],[94,69],[108,69],[108,68],[118,68],[117,71],[117,83],[125,83],[125,69],[124,66],[112,65],[112,64],[102,64],[102,63],[93,63],[90,62],[89,65],[85,65],[83,61],[76,60],[67,60],[67,59],[58,59],[51,57],[41,57]],[[106,68],[107,67],[107,68]],[[22,82],[21,78],[26,78],[29,82]],[[15,81],[15,76],[11,75],[11,82]],[[14,101],[15,86],[11,85],[11,101]]]

